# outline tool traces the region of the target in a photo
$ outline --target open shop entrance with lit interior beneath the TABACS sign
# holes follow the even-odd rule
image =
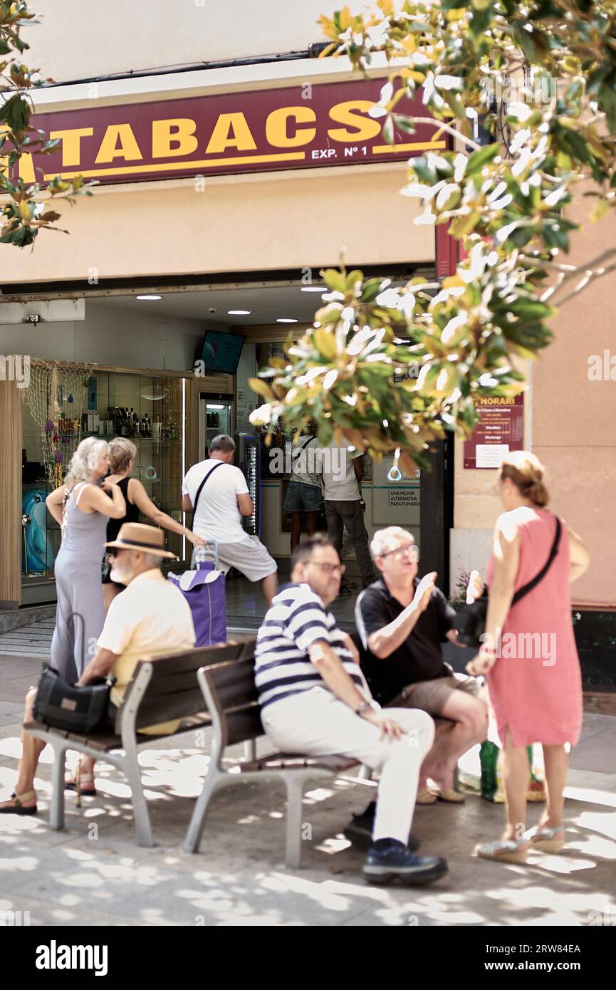
[[[399,275],[396,279],[396,272],[372,273],[393,275],[394,284],[402,280]],[[404,280],[408,275],[404,273]],[[178,521],[184,519],[183,472],[203,459],[214,436],[234,436],[241,446],[239,462],[246,467],[251,461],[252,465],[251,485],[258,506],[252,532],[259,534],[276,559],[280,574],[285,575],[291,520],[283,505],[289,477],[285,471],[271,470],[271,453],[277,447],[287,448],[292,438],[280,434],[272,446],[265,446],[257,437],[250,415],[262,400],[250,389],[249,379],[269,357],[283,353],[289,333],[299,337],[311,324],[324,287],[279,278],[270,283],[236,282],[198,291],[165,287],[146,298],[139,298],[137,290],[130,295],[127,291],[86,299],[85,320],[75,324],[70,356],[82,364],[84,374],[87,372],[87,394],[78,423],[80,436],[132,437],[138,446],[137,476],[154,503]],[[49,324],[48,352],[40,355],[49,362],[57,355],[61,357],[55,332],[54,325]],[[210,360],[214,339],[218,350]],[[224,339],[233,342],[231,350]],[[206,340],[209,350],[204,346]],[[10,344],[4,347],[8,352]],[[232,352],[237,358],[233,367],[228,363]],[[69,418],[67,398],[61,390],[56,392],[56,399],[61,400],[61,408],[55,410],[58,422]],[[41,430],[42,424],[35,422],[25,407],[22,500],[28,504],[23,501],[22,508],[30,522],[21,527],[23,604],[54,597],[52,565],[59,533],[49,515],[45,520],[40,518],[46,516],[45,495],[52,486],[45,464],[49,451],[46,454],[41,442]],[[68,435],[63,439],[68,440]],[[67,454],[68,447],[62,448],[58,462],[64,472]],[[387,525],[408,529],[420,547],[420,570],[437,570],[439,584],[446,590],[449,529],[453,524],[451,457],[449,446],[438,445],[430,472],[399,478],[390,472],[391,457],[380,462],[366,457],[362,484],[368,536]],[[167,542],[180,557],[176,569],[188,566],[190,546],[175,536],[167,535]],[[357,574],[353,548],[346,546],[345,550],[348,571]]]

